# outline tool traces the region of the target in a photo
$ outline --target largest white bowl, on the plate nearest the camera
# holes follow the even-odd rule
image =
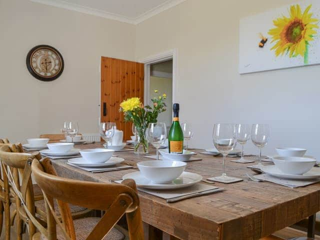
[[[140,161],[136,165],[145,178],[155,183],[171,182],[181,175],[186,167],[185,162],[170,160]]]

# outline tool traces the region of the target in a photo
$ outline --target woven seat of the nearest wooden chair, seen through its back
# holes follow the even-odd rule
[[[89,233],[91,232],[91,230],[99,220],[100,220],[99,217],[85,217],[85,218],[73,220],[76,240],[85,240],[85,238],[89,235]],[[40,232],[37,232],[36,234],[39,234],[40,237],[39,238],[34,237],[33,239],[41,239],[41,240],[47,239]],[[59,226],[56,227],[56,238],[57,240],[65,240]],[[123,233],[115,229],[114,227],[109,231],[108,234],[106,234],[102,238],[102,240],[123,240],[123,239],[124,239]]]

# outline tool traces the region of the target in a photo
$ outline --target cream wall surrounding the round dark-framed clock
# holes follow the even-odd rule
[[[37,44],[57,48],[62,75],[42,82],[25,57]],[[98,131],[100,56],[134,60],[135,26],[29,0],[0,0],[0,137],[22,141],[58,133],[63,120]]]

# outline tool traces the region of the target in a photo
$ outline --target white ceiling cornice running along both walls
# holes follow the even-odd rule
[[[51,6],[56,6],[56,7],[60,7],[60,8],[65,8],[65,9],[69,9],[69,10],[73,10],[73,11],[78,11],[78,12],[82,12],[82,13],[86,13],[86,14],[90,14],[90,15],[95,15],[95,16],[100,16],[100,17],[104,17],[104,18],[108,18],[108,19],[112,19],[112,20],[117,20],[117,21],[122,21],[122,22],[126,22],[126,23],[130,23],[130,24],[138,24],[166,9],[169,9],[179,3],[181,3],[182,1],[185,0],[167,0],[165,2],[163,2],[162,4],[144,12],[143,14],[139,15],[138,17],[127,17],[127,16],[123,16],[123,15],[119,15],[119,14],[115,14],[112,12],[107,12],[107,11],[103,11],[103,10],[99,10],[99,9],[95,9],[95,8],[91,8],[91,7],[87,7],[87,6],[83,6],[80,4],[75,4],[75,3],[70,3],[64,0],[30,0],[33,2],[38,2],[38,3],[42,3],[42,4],[46,4],[46,5],[51,5]]]

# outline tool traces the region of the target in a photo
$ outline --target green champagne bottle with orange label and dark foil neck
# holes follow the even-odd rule
[[[173,121],[168,135],[169,153],[183,152],[183,132],[179,123],[179,103],[173,104]]]

